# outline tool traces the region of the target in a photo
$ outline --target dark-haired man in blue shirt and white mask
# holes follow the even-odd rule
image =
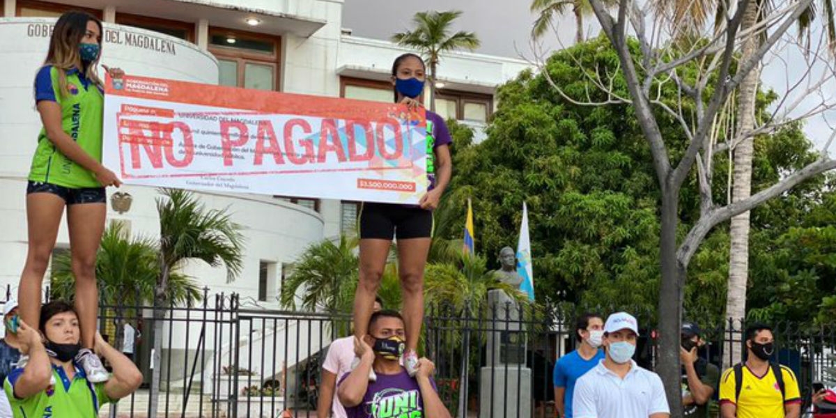
[[[604,359],[600,350],[604,337],[604,318],[599,314],[583,314],[575,322],[578,349],[564,355],[554,365],[554,406],[558,418],[572,418],[575,382]]]

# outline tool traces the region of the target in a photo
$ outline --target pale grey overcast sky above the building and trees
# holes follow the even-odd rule
[[[462,15],[455,25],[455,30],[477,33],[482,46],[477,52],[512,58],[533,60],[534,52],[530,43],[531,27],[536,16],[529,10],[530,0],[424,0],[421,3],[405,0],[345,0],[343,27],[350,28],[355,36],[364,38],[389,39],[393,33],[412,28],[411,19],[416,12],[428,10],[461,10]],[[594,16],[587,18],[584,32],[589,36],[599,33]],[[556,22],[558,33],[550,33],[544,38],[541,48],[553,50],[562,45],[573,43],[575,31],[574,17],[569,14]],[[794,29],[790,30],[793,35]],[[820,33],[814,34],[818,38]],[[806,66],[799,54],[778,54],[770,57],[762,73],[762,82],[766,88],[774,89],[778,94],[787,91],[789,84],[794,84],[803,74]],[[824,91],[836,92],[836,83],[823,86]],[[830,103],[836,103],[834,94],[827,94]],[[793,97],[793,100],[796,99]],[[792,101],[792,100],[791,100]],[[815,97],[804,99],[807,108],[821,102]],[[803,111],[804,105],[799,111]],[[829,125],[836,126],[836,112],[828,111]],[[822,115],[809,118],[804,132],[816,145],[823,145],[833,131]],[[828,150],[831,155],[836,151],[836,144]]]

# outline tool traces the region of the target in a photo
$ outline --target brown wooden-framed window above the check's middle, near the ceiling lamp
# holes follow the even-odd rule
[[[209,31],[209,51],[217,58],[218,84],[278,90],[281,39],[222,28]]]

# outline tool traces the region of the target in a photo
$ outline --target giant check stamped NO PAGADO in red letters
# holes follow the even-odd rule
[[[417,203],[424,112],[125,76],[107,79],[104,165],[125,184]]]

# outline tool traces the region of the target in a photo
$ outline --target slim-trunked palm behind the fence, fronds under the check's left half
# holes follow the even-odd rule
[[[160,217],[160,245],[157,263],[160,274],[154,289],[154,355],[151,359],[149,416],[156,416],[160,396],[163,321],[166,305],[174,303],[167,293],[174,273],[191,260],[227,269],[227,282],[242,269],[241,227],[232,222],[226,210],[207,209],[189,191],[162,189],[157,199]]]

